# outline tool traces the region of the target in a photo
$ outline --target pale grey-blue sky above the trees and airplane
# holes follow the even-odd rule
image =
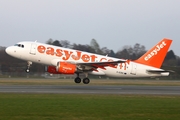
[[[0,46],[48,39],[117,52],[136,43],[146,50],[163,38],[180,56],[180,0],[0,0]]]

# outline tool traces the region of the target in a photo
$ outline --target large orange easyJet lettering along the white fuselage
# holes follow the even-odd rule
[[[53,47],[45,47],[43,45],[39,45],[37,47],[37,51],[42,54],[61,57],[62,60],[65,60],[65,61],[73,59],[75,61],[82,60],[84,62],[95,62],[96,59],[98,58],[98,56],[94,54],[86,54],[81,51],[55,49]],[[113,61],[113,60],[102,57],[100,58],[99,61],[102,62],[102,61]]]

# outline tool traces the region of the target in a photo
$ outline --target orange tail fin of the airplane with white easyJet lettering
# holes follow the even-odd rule
[[[160,68],[171,43],[172,40],[164,38],[135,62]]]

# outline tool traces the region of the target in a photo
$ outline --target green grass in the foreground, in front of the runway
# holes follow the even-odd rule
[[[0,93],[0,120],[179,120],[180,96]]]

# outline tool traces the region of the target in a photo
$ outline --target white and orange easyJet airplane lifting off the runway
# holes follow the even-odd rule
[[[57,47],[37,41],[18,42],[6,48],[6,53],[27,61],[26,72],[30,72],[32,63],[47,65],[52,74],[77,74],[75,83],[88,84],[88,74],[106,75],[118,78],[142,78],[168,76],[170,71],[161,69],[161,65],[172,43],[164,38],[137,60],[118,59],[79,50]],[[81,80],[79,74],[84,74]]]

